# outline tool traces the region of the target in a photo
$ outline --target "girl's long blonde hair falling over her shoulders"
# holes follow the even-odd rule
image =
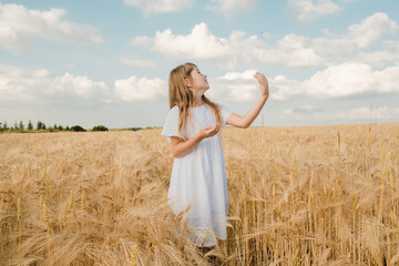
[[[194,94],[186,86],[184,79],[192,79],[191,72],[196,65],[193,63],[185,63],[176,66],[170,73],[168,78],[168,99],[170,108],[178,108],[178,135],[185,139],[185,127],[187,124],[187,119],[190,113],[188,110],[194,105]],[[208,105],[215,116],[216,123],[221,123],[221,113],[219,106],[213,103],[205,95],[202,96],[202,100],[206,105]]]

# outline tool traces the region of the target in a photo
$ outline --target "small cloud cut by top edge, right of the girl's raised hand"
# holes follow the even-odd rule
[[[331,0],[288,0],[288,7],[299,21],[311,21],[338,13],[341,8]]]

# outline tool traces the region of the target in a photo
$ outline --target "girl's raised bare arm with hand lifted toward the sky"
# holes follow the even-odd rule
[[[260,110],[265,105],[269,95],[267,79],[264,74],[259,72],[256,72],[254,74],[254,78],[258,81],[260,86],[260,99],[254,104],[254,106],[249,109],[249,111],[245,115],[232,113],[226,121],[227,124],[246,129],[254,122],[254,120],[260,113]]]

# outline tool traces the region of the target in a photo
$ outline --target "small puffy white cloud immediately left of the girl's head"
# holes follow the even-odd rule
[[[161,79],[131,76],[115,81],[116,96],[123,101],[151,101],[167,95],[167,83]]]

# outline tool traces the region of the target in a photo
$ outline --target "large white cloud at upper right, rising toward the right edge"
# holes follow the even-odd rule
[[[337,64],[348,61],[382,65],[397,61],[399,54],[397,43],[385,41],[386,50],[374,52],[368,50],[383,34],[393,34],[397,31],[399,25],[396,21],[385,13],[375,13],[360,23],[348,27],[348,32],[341,37],[329,32],[328,37],[319,38],[287,34],[278,41],[277,51],[272,51],[265,57],[268,57],[269,61],[272,59],[288,61],[287,53],[296,52],[295,55],[289,55],[289,59],[298,60],[299,65]],[[291,62],[290,65],[295,66],[295,63]]]

